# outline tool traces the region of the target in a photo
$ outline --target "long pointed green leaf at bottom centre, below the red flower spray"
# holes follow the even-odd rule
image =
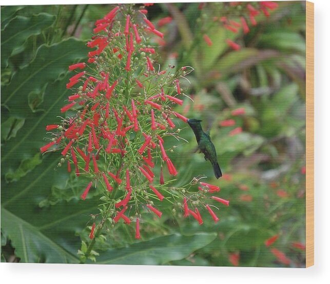
[[[180,260],[205,247],[216,238],[216,233],[191,236],[173,234],[137,242],[129,247],[110,249],[98,257],[98,264],[164,265]]]

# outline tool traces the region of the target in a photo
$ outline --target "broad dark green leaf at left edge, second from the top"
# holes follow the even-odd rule
[[[2,105],[12,115],[23,118],[29,116],[29,94],[40,93],[45,85],[54,82],[68,70],[69,65],[86,56],[87,52],[84,43],[74,38],[51,46],[42,45],[33,61],[15,73],[10,84],[3,88]]]

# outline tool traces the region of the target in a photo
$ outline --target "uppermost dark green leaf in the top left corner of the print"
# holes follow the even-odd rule
[[[40,13],[31,18],[16,16],[1,32],[1,68],[7,67],[8,58],[21,48],[24,42],[32,35],[40,34],[50,27],[55,21],[55,16]]]

